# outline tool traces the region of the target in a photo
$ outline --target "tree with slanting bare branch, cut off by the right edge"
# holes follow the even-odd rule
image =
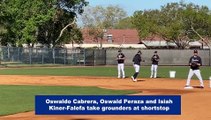
[[[197,12],[196,12],[197,11]],[[198,38],[206,45],[210,46],[211,37],[211,11],[206,6],[188,6],[184,11],[185,25],[189,28],[192,38]]]

